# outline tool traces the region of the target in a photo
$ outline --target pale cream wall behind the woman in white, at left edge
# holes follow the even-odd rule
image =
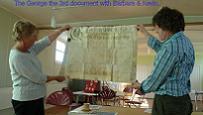
[[[8,55],[14,43],[11,38],[12,25],[19,19],[0,8],[0,110],[11,106],[12,82]]]

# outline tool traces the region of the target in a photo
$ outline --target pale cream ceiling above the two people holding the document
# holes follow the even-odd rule
[[[28,1],[28,0],[20,0]],[[31,0],[36,1],[50,1],[50,0]],[[53,0],[52,0],[53,1]],[[55,0],[61,1],[61,0]],[[62,0],[67,1],[67,0]],[[69,0],[69,1],[96,1],[96,0]],[[104,0],[99,0],[104,1]],[[112,1],[112,0],[111,0]],[[115,1],[115,0],[114,0]],[[118,0],[117,0],[118,1]],[[127,2],[127,0],[124,0]],[[128,0],[130,1],[130,0]],[[136,0],[131,0],[136,1]],[[138,0],[137,0],[138,1]],[[98,23],[95,21],[127,24],[132,23],[151,23],[151,17],[160,9],[161,6],[169,6],[176,8],[183,12],[185,16],[201,17],[203,22],[203,0],[139,0],[139,1],[154,1],[160,5],[158,6],[120,6],[120,7],[62,7],[56,6],[58,10],[52,11],[51,6],[16,6],[15,0],[0,0],[0,7],[6,9],[13,14],[32,21],[38,26],[50,25],[52,15],[56,17],[57,24],[65,23]],[[63,7],[64,8],[64,7]],[[144,18],[145,17],[145,18]],[[112,21],[114,20],[114,21]],[[106,23],[106,22],[105,22]]]

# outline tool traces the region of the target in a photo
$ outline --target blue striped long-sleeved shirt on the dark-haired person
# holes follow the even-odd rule
[[[141,90],[170,96],[188,94],[195,61],[191,41],[178,32],[164,42],[151,36],[148,45],[156,52],[156,59],[151,75],[141,83]]]

